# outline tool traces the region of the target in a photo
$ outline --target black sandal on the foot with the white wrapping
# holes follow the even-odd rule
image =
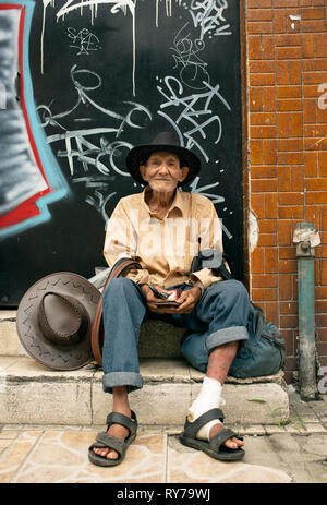
[[[223,422],[223,412],[220,409],[211,409],[203,413],[194,422],[189,422],[187,419],[184,425],[184,432],[180,435],[180,442],[187,447],[192,447],[197,450],[203,450],[211,458],[220,459],[221,461],[237,461],[244,457],[244,450],[240,447],[238,449],[230,449],[226,447],[223,442],[232,436],[235,436],[239,440],[243,440],[242,436],[237,435],[232,430],[225,428],[219,431],[213,438],[207,441],[201,441],[196,438],[196,433],[198,430],[204,426],[207,422],[219,419]]]

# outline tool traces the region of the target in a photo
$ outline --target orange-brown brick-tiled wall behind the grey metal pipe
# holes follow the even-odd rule
[[[244,0],[241,11],[244,207],[259,230],[256,247],[246,244],[245,269],[252,299],[286,336],[291,380],[299,333],[292,237],[300,221],[312,221],[322,239],[315,311],[319,362],[327,365],[327,7],[325,0]]]

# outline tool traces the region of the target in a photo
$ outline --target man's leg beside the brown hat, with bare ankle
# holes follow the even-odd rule
[[[105,342],[102,350],[104,390],[112,393],[112,410],[131,418],[129,392],[142,387],[138,370],[137,341],[140,326],[145,316],[144,298],[130,279],[112,279],[104,292]],[[124,440],[126,428],[112,424],[108,434]],[[110,448],[94,448],[108,459],[117,459]]]

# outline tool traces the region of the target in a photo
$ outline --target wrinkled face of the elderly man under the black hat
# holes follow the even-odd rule
[[[186,178],[189,167],[180,167],[180,158],[174,153],[159,151],[141,165],[140,171],[152,190],[166,193],[173,191]]]

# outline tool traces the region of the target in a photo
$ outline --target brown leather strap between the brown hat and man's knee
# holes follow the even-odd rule
[[[131,260],[130,257],[122,257],[114,263],[112,268],[109,272],[108,278],[106,280],[104,291],[108,287],[110,280],[120,277],[128,268],[135,266],[135,268],[142,268],[140,263]],[[102,364],[102,345],[104,345],[104,306],[102,306],[102,296],[98,302],[96,313],[92,324],[92,334],[90,334],[90,347],[95,361],[101,365]]]

